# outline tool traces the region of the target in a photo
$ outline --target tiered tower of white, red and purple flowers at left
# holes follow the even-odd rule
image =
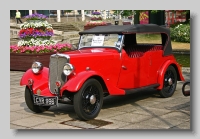
[[[46,21],[46,16],[33,14],[25,16],[26,22],[20,26],[18,46],[41,46],[54,45],[57,42],[52,40],[52,25]]]

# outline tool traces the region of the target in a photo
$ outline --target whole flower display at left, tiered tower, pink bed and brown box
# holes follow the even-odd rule
[[[49,66],[50,56],[57,52],[72,50],[68,43],[57,43],[52,40],[52,25],[46,21],[47,16],[33,14],[25,16],[26,22],[20,26],[20,41],[10,46],[10,70],[26,71],[34,61]]]

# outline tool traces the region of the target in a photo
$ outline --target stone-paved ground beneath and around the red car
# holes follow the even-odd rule
[[[99,116],[83,122],[72,105],[60,104],[42,114],[30,111],[19,86],[23,73],[10,71],[10,129],[191,129],[190,97],[182,95],[183,82],[170,98],[160,98],[155,90],[106,97]],[[183,73],[189,80],[190,70],[183,68]]]

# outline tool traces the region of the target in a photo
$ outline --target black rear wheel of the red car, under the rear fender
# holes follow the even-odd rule
[[[167,71],[165,72],[163,79],[163,88],[159,90],[159,94],[161,97],[168,98],[171,97],[177,85],[177,73],[173,66],[169,66]]]

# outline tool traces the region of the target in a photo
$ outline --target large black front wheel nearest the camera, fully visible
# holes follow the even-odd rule
[[[74,95],[74,110],[81,120],[97,117],[103,105],[103,89],[96,79],[87,80]]]

